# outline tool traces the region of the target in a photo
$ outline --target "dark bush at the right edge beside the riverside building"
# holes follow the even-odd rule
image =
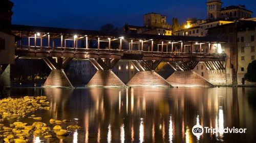
[[[256,82],[256,60],[249,63],[244,79],[249,82]]]

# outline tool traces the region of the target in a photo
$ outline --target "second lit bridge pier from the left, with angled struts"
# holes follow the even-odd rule
[[[95,66],[97,72],[87,86],[126,88],[127,86],[111,70],[118,61],[118,59],[90,59],[90,62]]]

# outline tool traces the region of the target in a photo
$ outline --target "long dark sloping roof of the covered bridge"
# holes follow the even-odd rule
[[[23,34],[35,34],[37,32],[41,34],[50,35],[78,35],[88,37],[103,37],[103,38],[119,38],[135,39],[135,40],[150,40],[154,41],[174,41],[174,42],[211,42],[211,43],[224,43],[223,39],[217,37],[193,37],[193,36],[166,36],[166,35],[151,35],[151,34],[135,34],[135,33],[117,33],[117,32],[102,32],[93,30],[80,30],[80,29],[64,29],[64,28],[52,28],[52,27],[37,27],[37,26],[24,26],[24,25],[12,25],[12,32],[17,35],[21,32]]]

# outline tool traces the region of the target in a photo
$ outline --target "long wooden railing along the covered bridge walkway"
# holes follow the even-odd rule
[[[83,49],[71,47],[48,47],[48,46],[20,46],[15,47],[16,51],[23,52],[56,52],[56,53],[85,53],[85,54],[125,54],[125,55],[141,55],[141,56],[163,56],[163,57],[214,57],[225,58],[226,54],[215,53],[174,53],[174,52],[148,52],[135,50],[109,50],[109,49]]]

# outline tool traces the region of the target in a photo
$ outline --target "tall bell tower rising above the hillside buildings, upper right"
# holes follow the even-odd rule
[[[221,0],[207,0],[207,19],[216,19],[221,15]]]

